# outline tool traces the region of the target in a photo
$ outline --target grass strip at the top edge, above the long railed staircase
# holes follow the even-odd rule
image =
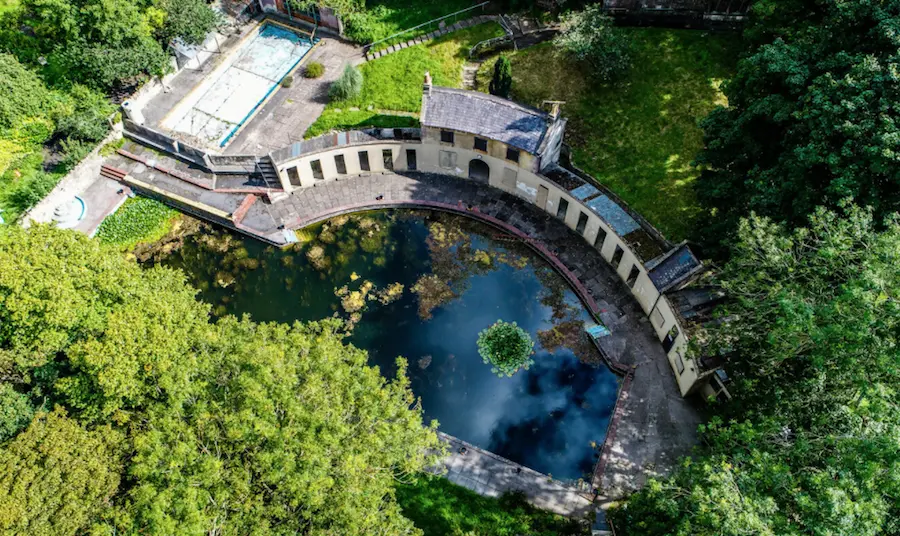
[[[350,39],[369,44],[478,3],[480,2],[472,0],[369,0],[366,2],[365,12],[344,17],[345,32]],[[475,9],[471,15],[464,14],[463,18],[474,17],[481,12],[480,9]],[[403,37],[408,40],[434,29],[423,28],[422,32],[409,33]],[[375,47],[375,50],[380,48],[382,47]]]

